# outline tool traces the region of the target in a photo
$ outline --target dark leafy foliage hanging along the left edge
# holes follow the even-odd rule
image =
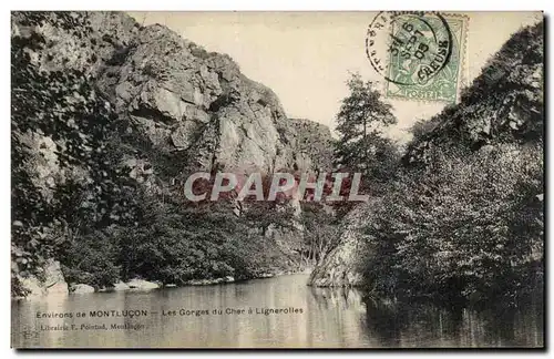
[[[28,21],[35,25],[44,17]],[[31,60],[48,47],[34,32],[12,37],[12,285],[20,295],[20,276],[40,278],[82,219],[92,227],[110,222],[109,208],[121,198],[106,145],[114,114],[82,72],[44,71]]]

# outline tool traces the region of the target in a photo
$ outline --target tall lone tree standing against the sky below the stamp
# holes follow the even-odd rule
[[[347,81],[350,94],[342,100],[337,114],[336,165],[352,172],[371,175],[377,152],[393,142],[382,135],[383,127],[397,123],[392,106],[381,101],[381,94],[371,81],[363,82],[360,74]]]

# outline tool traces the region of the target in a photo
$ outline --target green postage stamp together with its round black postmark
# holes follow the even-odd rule
[[[368,28],[371,65],[388,98],[454,103],[463,78],[468,18],[439,12],[381,12]],[[383,60],[386,59],[386,64]]]

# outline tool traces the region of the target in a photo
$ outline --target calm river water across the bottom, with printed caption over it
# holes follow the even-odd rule
[[[526,308],[501,315],[429,307],[392,311],[366,306],[356,290],[307,287],[307,275],[290,275],[240,284],[12,301],[12,345],[246,348],[543,346],[540,309]],[[265,308],[283,310],[265,315]],[[222,314],[213,312],[214,309],[220,309]],[[232,309],[234,314],[225,314]],[[243,309],[244,314],[237,314]],[[248,309],[253,312],[248,314]],[[90,311],[98,310],[114,310],[120,315],[123,310],[137,310],[142,315],[133,318],[91,318]],[[187,310],[207,310],[209,314],[196,316]],[[72,314],[73,318],[39,319],[38,312]],[[76,312],[85,312],[86,317],[76,318]],[[175,316],[168,316],[171,314]],[[63,325],[65,330],[45,330]],[[120,327],[112,329],[112,325]]]

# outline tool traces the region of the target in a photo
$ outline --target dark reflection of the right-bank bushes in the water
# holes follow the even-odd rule
[[[438,308],[367,302],[367,329],[382,347],[542,347],[543,306]]]

